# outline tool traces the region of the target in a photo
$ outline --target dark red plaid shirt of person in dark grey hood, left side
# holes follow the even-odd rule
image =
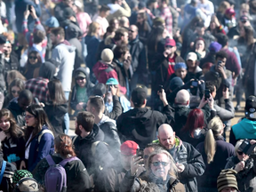
[[[26,89],[32,92],[33,97],[37,98],[40,102],[46,102],[48,99],[48,82],[49,80],[43,77],[29,79],[26,82]]]

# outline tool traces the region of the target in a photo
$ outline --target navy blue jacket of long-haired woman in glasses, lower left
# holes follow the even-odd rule
[[[41,132],[48,129],[47,126],[43,126]],[[28,171],[32,172],[36,164],[38,164],[45,156],[49,154],[52,155],[54,151],[54,138],[51,133],[45,132],[38,143],[38,137],[41,134],[39,132],[36,137],[31,141],[29,148],[29,157],[28,157]]]

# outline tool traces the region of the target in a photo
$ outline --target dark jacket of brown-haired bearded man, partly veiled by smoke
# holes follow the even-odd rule
[[[81,159],[89,175],[98,170],[99,165],[106,167],[112,165],[114,158],[110,155],[108,147],[102,141],[104,140],[104,132],[102,132],[97,124],[93,125],[92,132],[85,138],[76,136],[73,139],[75,152]],[[99,141],[95,154],[92,155],[92,144]]]

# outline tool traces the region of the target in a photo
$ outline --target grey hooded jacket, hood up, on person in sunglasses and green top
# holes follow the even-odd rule
[[[86,76],[86,84],[85,84],[85,88],[86,88],[86,92],[87,92],[87,96],[88,98],[91,96],[92,93],[92,88],[94,86],[94,84],[92,84],[92,82],[90,81],[90,74],[87,72],[86,68],[77,68],[75,71],[75,74],[77,72],[82,72],[85,74]],[[71,100],[70,100],[70,107],[73,110],[76,110],[76,105],[78,104],[78,101],[76,100],[76,90],[77,90],[77,86],[79,86],[78,84],[76,84],[73,89],[72,89],[72,95],[71,95]]]

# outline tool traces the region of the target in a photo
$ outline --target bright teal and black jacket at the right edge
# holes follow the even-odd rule
[[[256,121],[244,118],[231,127],[229,142],[234,146],[237,140],[256,140]]]

